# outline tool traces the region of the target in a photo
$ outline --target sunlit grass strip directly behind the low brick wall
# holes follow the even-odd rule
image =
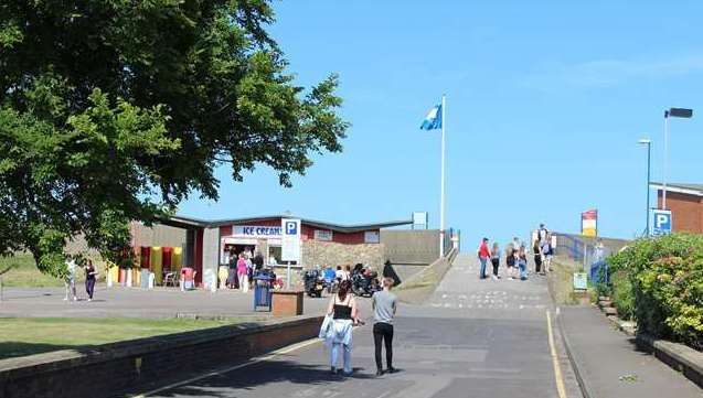
[[[0,318],[0,359],[252,321],[256,320]]]

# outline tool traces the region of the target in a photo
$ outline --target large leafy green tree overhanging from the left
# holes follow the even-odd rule
[[[216,200],[216,166],[289,186],[341,151],[337,77],[297,86],[273,22],[267,0],[0,3],[0,254],[61,277],[83,234],[129,261],[129,220]]]

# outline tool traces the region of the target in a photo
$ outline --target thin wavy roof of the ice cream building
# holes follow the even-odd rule
[[[246,218],[228,218],[228,219],[200,219],[193,217],[184,217],[184,216],[171,216],[168,219],[162,219],[161,224],[170,225],[179,228],[192,228],[192,227],[201,227],[201,228],[214,228],[225,225],[245,225],[245,224],[255,224],[257,222],[267,220],[271,218],[300,218],[300,222],[306,225],[310,225],[312,227],[318,227],[321,229],[329,229],[337,233],[359,233],[364,230],[372,229],[381,229],[395,227],[400,225],[411,225],[413,224],[412,219],[404,220],[394,220],[394,222],[383,222],[383,223],[372,223],[372,224],[355,224],[355,225],[342,225],[342,224],[333,224],[327,222],[320,222],[310,218],[296,217],[292,215],[270,215],[270,216],[258,216],[258,217],[246,217]]]

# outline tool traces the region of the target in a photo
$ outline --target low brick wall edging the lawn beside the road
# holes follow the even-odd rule
[[[96,397],[318,335],[321,316],[239,324],[0,361],[0,397]],[[103,392],[98,392],[103,391]]]

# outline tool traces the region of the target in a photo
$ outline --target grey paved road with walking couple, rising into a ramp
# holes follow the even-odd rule
[[[478,280],[460,256],[424,306],[401,306],[395,365],[374,376],[370,326],[354,332],[352,377],[329,374],[318,342],[153,397],[558,397],[545,280]]]

